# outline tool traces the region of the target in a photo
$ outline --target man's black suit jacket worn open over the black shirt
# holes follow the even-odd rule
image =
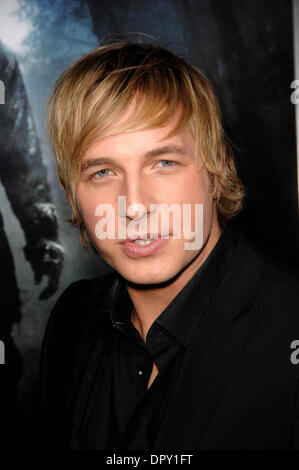
[[[114,277],[72,284],[51,314],[40,375],[46,447],[76,449],[107,327],[99,306]],[[299,448],[294,340],[298,280],[241,234],[186,352],[154,449]]]

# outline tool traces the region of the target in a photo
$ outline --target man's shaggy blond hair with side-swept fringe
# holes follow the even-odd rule
[[[115,126],[133,101],[133,115]],[[122,41],[88,52],[59,77],[49,101],[48,128],[58,180],[82,241],[87,234],[76,185],[83,154],[108,135],[163,126],[178,110],[180,119],[167,137],[184,126],[190,129],[196,162],[200,157],[211,176],[218,216],[225,223],[242,208],[244,188],[217,99],[196,67],[165,48]]]

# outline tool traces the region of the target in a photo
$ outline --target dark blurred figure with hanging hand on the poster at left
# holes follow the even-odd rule
[[[58,243],[55,207],[22,76],[15,56],[1,42],[0,79],[5,87],[5,102],[0,105],[0,180],[23,229],[25,258],[35,283],[48,277],[40,294],[40,300],[47,299],[58,288],[64,250]],[[13,324],[21,319],[21,300],[1,213],[0,259],[0,340],[5,345],[5,365],[0,369],[0,448],[5,448],[14,447],[21,437],[18,383],[23,360],[11,336]]]

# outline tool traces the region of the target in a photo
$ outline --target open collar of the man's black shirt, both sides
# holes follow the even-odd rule
[[[154,322],[165,328],[185,347],[189,346],[204,311],[229,266],[239,236],[239,230],[227,223],[207,259]],[[116,279],[101,310],[109,311],[112,323],[121,328],[122,323],[130,322],[132,308],[133,303],[125,280],[116,273]]]

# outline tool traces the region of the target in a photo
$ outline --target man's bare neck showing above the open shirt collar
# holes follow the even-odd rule
[[[134,305],[131,321],[144,342],[152,323],[200,268],[216,245],[220,234],[221,228],[217,223],[198,256],[170,282],[142,287],[127,284],[127,291]]]

